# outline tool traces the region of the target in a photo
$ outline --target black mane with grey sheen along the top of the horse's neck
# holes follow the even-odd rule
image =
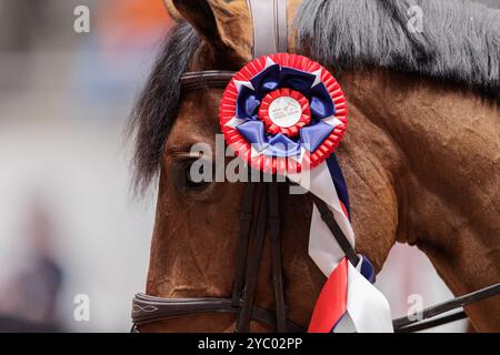
[[[421,33],[408,27],[414,4]],[[414,72],[500,102],[500,10],[467,0],[306,0],[296,26],[298,51],[327,68]]]

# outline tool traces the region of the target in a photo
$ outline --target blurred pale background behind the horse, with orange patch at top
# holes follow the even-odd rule
[[[79,6],[89,33],[73,29]],[[171,26],[161,0],[0,0],[0,332],[130,329],[156,197],[130,193],[123,132]],[[401,245],[378,286],[394,316],[410,294],[451,297]]]

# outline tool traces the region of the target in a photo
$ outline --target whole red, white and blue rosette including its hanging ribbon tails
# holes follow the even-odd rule
[[[321,199],[352,247],[346,181],[333,152],[348,124],[343,92],[319,63],[269,54],[244,65],[228,84],[220,124],[234,153],[264,173],[287,175]],[[389,304],[373,285],[373,267],[352,265],[313,205],[309,255],[328,277],[309,332],[392,332]]]

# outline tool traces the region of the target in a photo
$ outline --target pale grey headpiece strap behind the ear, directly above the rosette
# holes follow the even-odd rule
[[[287,0],[247,0],[253,22],[253,58],[288,52]]]

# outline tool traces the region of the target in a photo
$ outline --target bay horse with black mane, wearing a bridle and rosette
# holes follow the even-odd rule
[[[418,3],[289,0],[288,44],[328,68],[348,100],[349,129],[336,154],[350,189],[356,251],[378,273],[394,243],[414,245],[458,296],[500,280],[500,11],[461,0]],[[244,183],[200,183],[187,174],[194,143],[216,149],[222,89],[181,92],[179,81],[188,71],[234,71],[249,62],[252,22],[246,1],[167,4],[179,23],[130,125],[136,191],[158,183],[146,292],[227,297]],[[420,30],[409,24],[416,9]],[[324,283],[307,253],[312,202],[308,194],[281,199],[287,311],[306,326]],[[267,241],[254,300],[267,310],[274,302],[270,253]],[[478,332],[500,331],[499,296],[464,310]],[[220,313],[139,326],[233,327],[233,315]],[[269,327],[252,322],[250,331]]]

